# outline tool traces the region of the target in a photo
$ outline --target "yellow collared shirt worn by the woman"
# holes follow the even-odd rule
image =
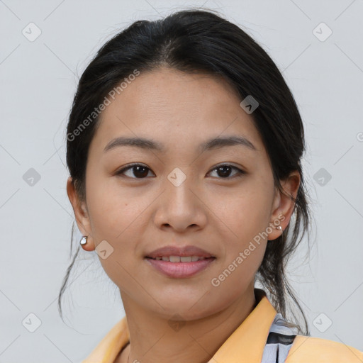
[[[208,363],[261,363],[270,328],[277,311],[266,293],[255,289],[257,306],[220,346]],[[122,318],[99,342],[82,363],[113,363],[128,344],[126,317]],[[262,363],[277,360],[264,360]],[[363,363],[363,352],[349,345],[318,337],[296,335],[284,361],[286,363]],[[280,362],[279,362],[280,363]]]

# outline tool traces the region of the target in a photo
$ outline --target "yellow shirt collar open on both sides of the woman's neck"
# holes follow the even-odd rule
[[[250,315],[219,347],[208,361],[211,363],[260,363],[269,328],[277,311],[266,293],[255,288],[257,305]],[[99,342],[82,363],[113,363],[121,348],[130,340],[126,317],[123,317]]]

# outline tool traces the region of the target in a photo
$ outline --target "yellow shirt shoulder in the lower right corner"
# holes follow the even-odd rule
[[[296,335],[286,363],[362,363],[363,352],[341,342]]]

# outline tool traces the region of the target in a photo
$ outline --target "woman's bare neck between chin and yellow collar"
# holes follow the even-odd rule
[[[254,286],[250,286],[230,306],[184,321],[147,310],[127,294],[121,293],[121,298],[130,333],[125,362],[135,363],[208,362],[257,304]]]

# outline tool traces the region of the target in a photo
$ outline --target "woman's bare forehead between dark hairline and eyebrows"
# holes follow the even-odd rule
[[[94,137],[99,151],[120,136],[152,138],[164,152],[200,151],[206,140],[225,135],[244,137],[257,151],[263,149],[252,116],[240,107],[232,86],[208,74],[167,68],[140,72],[110,101]]]

